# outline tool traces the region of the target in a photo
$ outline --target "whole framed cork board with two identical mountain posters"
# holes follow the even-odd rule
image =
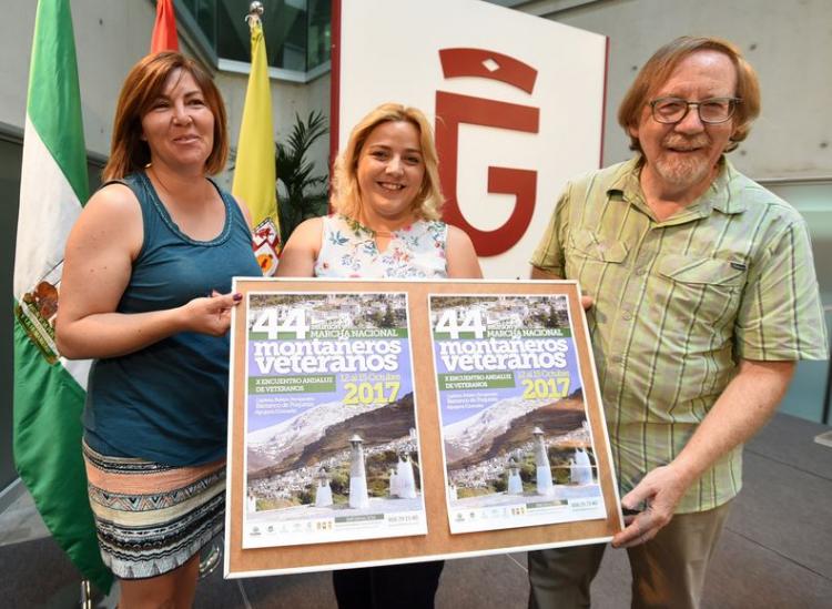
[[[621,529],[575,282],[237,278],[234,290],[226,577]]]

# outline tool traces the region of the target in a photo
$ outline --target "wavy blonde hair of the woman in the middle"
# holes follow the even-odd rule
[[[419,132],[422,158],[425,160],[425,176],[422,187],[413,201],[413,212],[416,217],[438,220],[443,204],[442,186],[439,184],[439,160],[434,143],[434,132],[425,114],[416,108],[407,108],[400,103],[383,103],[364,116],[349,133],[346,149],[335,161],[333,175],[332,206],[335,211],[357,220],[361,214],[362,201],[358,190],[358,159],[369,133],[379,124],[386,122],[406,121]]]

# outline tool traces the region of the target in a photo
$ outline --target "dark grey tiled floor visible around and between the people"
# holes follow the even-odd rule
[[[813,441],[820,430],[778,415],[747,446],[745,486],[714,556],[704,607],[832,607],[832,448]],[[28,497],[0,515],[2,606],[77,607],[78,574],[44,535]],[[436,605],[522,609],[527,595],[524,554],[460,559],[447,562]],[[629,599],[626,554],[608,550],[592,607],[625,608]],[[195,607],[326,609],[335,599],[328,574],[223,580],[217,569],[197,588]]]

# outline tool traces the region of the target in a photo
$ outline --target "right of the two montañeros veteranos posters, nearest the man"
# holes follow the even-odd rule
[[[451,532],[606,518],[569,297],[429,307]]]

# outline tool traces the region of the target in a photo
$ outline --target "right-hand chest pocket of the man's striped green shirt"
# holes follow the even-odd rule
[[[672,282],[668,307],[677,318],[694,316],[721,328],[737,316],[748,272],[744,263],[666,254],[657,271]]]

